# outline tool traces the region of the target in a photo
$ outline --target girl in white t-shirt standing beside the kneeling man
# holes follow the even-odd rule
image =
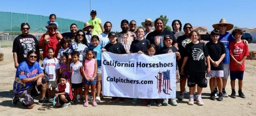
[[[47,49],[47,57],[43,60],[43,68],[44,68],[44,74],[46,74],[46,77],[49,79],[48,87],[47,87],[47,94],[48,94],[48,100],[52,100],[51,98],[51,87],[52,87],[52,94],[55,94],[55,88],[57,87],[56,83],[56,70],[58,65],[57,58],[53,57],[54,49],[52,47],[49,47]]]

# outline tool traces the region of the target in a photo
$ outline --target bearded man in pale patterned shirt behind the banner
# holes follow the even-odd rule
[[[125,46],[126,53],[130,53],[130,45],[136,39],[136,35],[129,31],[129,22],[126,19],[122,20],[121,28],[122,32],[117,33],[117,41]]]

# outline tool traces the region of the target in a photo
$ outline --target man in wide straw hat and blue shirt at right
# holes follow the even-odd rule
[[[230,42],[234,41],[234,38],[232,37],[231,33],[226,32],[226,31],[231,30],[234,27],[234,25],[227,23],[226,19],[222,18],[220,20],[220,23],[213,24],[212,27],[214,29],[218,29],[220,31],[220,38],[218,39],[218,41],[223,42],[225,45],[226,55],[222,61],[223,68],[224,68],[224,77],[222,78],[222,84],[223,84],[222,93],[223,93],[223,97],[228,97],[228,94],[225,91],[225,87],[226,87],[226,81],[228,80],[228,76],[229,76],[229,63],[230,63],[230,61],[229,61],[229,59],[230,59],[229,44],[230,44]],[[245,43],[246,43],[246,45],[248,45],[247,41],[245,41]],[[217,62],[217,65],[218,65],[218,62]],[[219,90],[219,91],[221,91],[221,90]],[[217,93],[217,85],[214,87],[214,92]],[[216,96],[217,96],[217,94],[216,94]]]

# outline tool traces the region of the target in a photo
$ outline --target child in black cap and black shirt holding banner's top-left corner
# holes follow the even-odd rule
[[[119,42],[117,42],[117,35],[115,35],[114,32],[110,32],[109,35],[109,41],[110,43],[105,46],[105,48],[101,49],[101,52],[109,51],[114,54],[126,54],[125,47]],[[110,99],[110,102],[117,101],[118,97],[112,97]],[[123,97],[119,97],[119,102],[123,103],[125,99]]]

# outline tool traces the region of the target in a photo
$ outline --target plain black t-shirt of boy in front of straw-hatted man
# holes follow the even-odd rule
[[[217,44],[214,44],[212,41],[207,43],[207,49],[210,58],[213,61],[218,61],[222,54],[226,54],[225,46],[222,42],[218,41]],[[223,70],[223,63],[222,61],[218,65],[218,67],[214,67],[212,63],[210,63],[210,70]]]

